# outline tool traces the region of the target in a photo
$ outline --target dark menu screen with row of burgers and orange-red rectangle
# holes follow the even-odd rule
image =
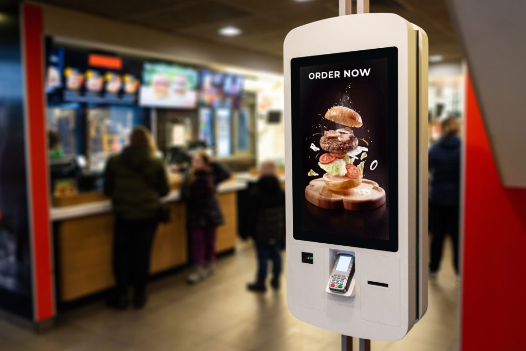
[[[137,60],[54,47],[47,59],[48,102],[136,105],[141,70]]]

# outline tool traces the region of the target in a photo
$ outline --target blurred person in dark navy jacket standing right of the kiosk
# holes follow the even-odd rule
[[[460,125],[457,118],[447,117],[441,121],[440,128],[440,139],[429,149],[431,282],[437,280],[443,242],[447,234],[451,236],[453,244],[453,266],[457,276],[459,274]]]

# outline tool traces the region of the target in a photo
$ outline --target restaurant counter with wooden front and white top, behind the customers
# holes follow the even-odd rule
[[[238,232],[237,192],[246,182],[229,181],[218,187],[225,224],[217,231],[217,252],[234,249]],[[186,207],[180,191],[162,200],[173,219],[159,224],[151,252],[150,274],[188,263]],[[115,284],[112,271],[114,215],[110,200],[53,207],[50,211],[55,239],[57,298],[70,302],[107,290]]]

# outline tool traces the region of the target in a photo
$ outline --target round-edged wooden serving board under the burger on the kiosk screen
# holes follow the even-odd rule
[[[377,182],[363,179],[356,188],[332,191],[323,178],[312,180],[305,188],[305,198],[323,209],[346,209],[351,211],[372,210],[386,202],[386,192]]]

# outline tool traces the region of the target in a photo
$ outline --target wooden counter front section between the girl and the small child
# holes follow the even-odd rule
[[[217,229],[216,251],[234,249],[237,235],[237,192],[219,194],[219,205],[225,224]]]

